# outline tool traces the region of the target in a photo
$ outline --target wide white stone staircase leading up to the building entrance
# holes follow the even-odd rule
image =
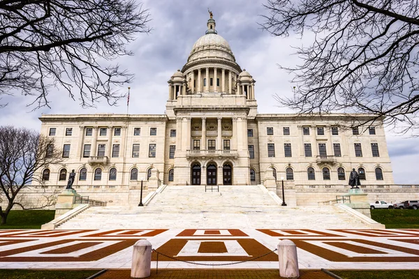
[[[367,229],[336,206],[280,206],[263,186],[167,186],[145,207],[91,207],[57,229]]]

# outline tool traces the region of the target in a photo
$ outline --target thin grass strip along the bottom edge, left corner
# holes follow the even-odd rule
[[[64,271],[48,270],[37,271],[28,269],[0,269],[0,278],[7,279],[86,279],[98,273],[98,270]]]

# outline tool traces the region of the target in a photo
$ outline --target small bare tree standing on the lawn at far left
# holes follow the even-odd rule
[[[0,206],[0,225],[6,224],[7,216],[14,205],[27,209],[22,203],[22,190],[32,181],[43,183],[41,169],[62,161],[61,151],[54,146],[54,140],[27,128],[0,126],[0,193],[7,206]],[[50,206],[36,204],[36,208]],[[34,209],[34,208],[31,208]]]

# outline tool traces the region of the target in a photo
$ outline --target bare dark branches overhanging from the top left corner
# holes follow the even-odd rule
[[[101,97],[113,105],[133,75],[108,61],[132,55],[126,44],[148,22],[131,0],[0,0],[0,96],[20,91],[50,107],[48,93],[61,87],[82,107]]]

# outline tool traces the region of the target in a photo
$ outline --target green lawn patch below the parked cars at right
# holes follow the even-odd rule
[[[387,229],[419,229],[419,210],[374,209],[371,217]]]

